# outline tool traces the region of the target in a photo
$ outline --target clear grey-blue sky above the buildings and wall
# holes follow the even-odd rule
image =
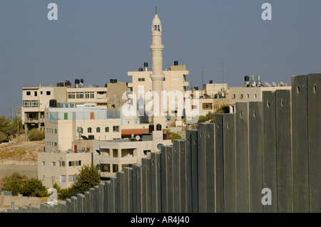
[[[58,21],[49,21],[49,3]],[[263,3],[272,21],[263,21]],[[321,1],[285,0],[0,0],[0,115],[21,106],[24,86],[56,85],[73,75],[85,85],[151,65],[151,21],[163,24],[163,68],[174,60],[188,81],[243,85],[244,75],[290,83],[292,75],[321,73]]]

